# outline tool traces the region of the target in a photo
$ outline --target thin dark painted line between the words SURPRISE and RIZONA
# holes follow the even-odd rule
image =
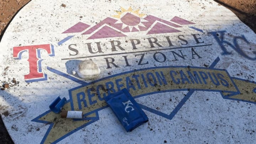
[[[160,50],[170,50],[170,49],[179,49],[179,48],[192,48],[192,47],[206,47],[206,46],[212,46],[212,44],[205,44],[205,45],[200,45],[200,46],[188,46],[188,47],[176,47],[176,48],[164,48],[164,49],[143,50],[143,51],[126,52],[126,53],[112,53],[112,54],[102,54],[102,55],[90,55],[90,56],[87,56],[87,57],[63,58],[62,60],[82,59],[82,58],[93,58],[93,57],[102,57],[102,56],[109,56],[109,55],[130,54],[130,53],[143,53],[143,52],[153,52],[153,51],[160,51]]]

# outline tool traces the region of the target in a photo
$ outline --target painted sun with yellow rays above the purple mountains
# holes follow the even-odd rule
[[[116,23],[122,23],[122,29],[125,27],[129,27],[130,31],[133,28],[139,30],[139,26],[145,27],[142,22],[147,22],[142,17],[145,14],[140,14],[139,10],[132,10],[132,7],[129,7],[127,10],[121,7],[121,11],[116,11],[117,15],[113,15],[113,17],[118,18],[119,20]]]

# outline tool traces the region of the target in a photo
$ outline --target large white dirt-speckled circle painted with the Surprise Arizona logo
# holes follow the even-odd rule
[[[2,119],[15,143],[254,143],[255,39],[212,0],[32,0],[1,39]],[[128,133],[103,100],[123,88],[149,118]]]

